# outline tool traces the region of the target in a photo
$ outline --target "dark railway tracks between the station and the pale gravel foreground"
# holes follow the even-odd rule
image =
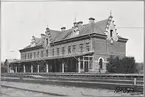
[[[136,85],[134,85],[136,78]],[[2,74],[4,81],[57,84],[87,88],[115,89],[116,87],[135,88],[143,92],[143,76],[132,74],[76,74],[76,73],[16,73]]]

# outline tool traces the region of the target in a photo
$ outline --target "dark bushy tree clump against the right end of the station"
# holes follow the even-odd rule
[[[108,61],[107,71],[110,73],[135,73],[134,57],[110,57]]]

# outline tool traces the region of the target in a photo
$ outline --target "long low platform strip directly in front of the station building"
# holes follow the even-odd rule
[[[102,74],[102,73],[75,73],[75,72],[41,72],[41,73],[2,73],[2,76],[28,76],[28,75],[40,75],[40,76],[57,76],[57,77],[81,77],[81,78],[109,78],[109,79],[140,79],[143,80],[143,74]]]

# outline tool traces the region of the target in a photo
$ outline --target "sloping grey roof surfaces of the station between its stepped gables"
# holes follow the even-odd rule
[[[98,33],[98,34],[106,35],[105,31],[106,31],[107,23],[108,23],[108,19],[105,19],[105,20],[97,21],[91,24],[80,25],[78,26],[79,35],[77,36],[83,36],[83,35],[87,35],[91,33]],[[51,35],[52,42],[56,42],[56,41],[61,41],[61,40],[71,38],[71,34],[73,33],[73,30],[74,30],[74,27],[67,29],[65,31],[56,31],[56,30],[49,29],[49,33]],[[118,37],[123,38],[119,35]],[[35,37],[35,41],[36,41],[36,46],[40,46],[43,44],[42,38]],[[31,45],[28,45],[24,49],[27,49],[27,48],[31,48]]]

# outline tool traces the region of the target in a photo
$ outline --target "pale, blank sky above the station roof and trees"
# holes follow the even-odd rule
[[[107,19],[112,12],[118,34],[128,38],[126,56],[143,62],[143,1],[55,1],[1,2],[1,60],[20,59],[19,50],[30,44],[32,36],[40,37],[48,26],[60,30],[75,21],[88,23]]]

